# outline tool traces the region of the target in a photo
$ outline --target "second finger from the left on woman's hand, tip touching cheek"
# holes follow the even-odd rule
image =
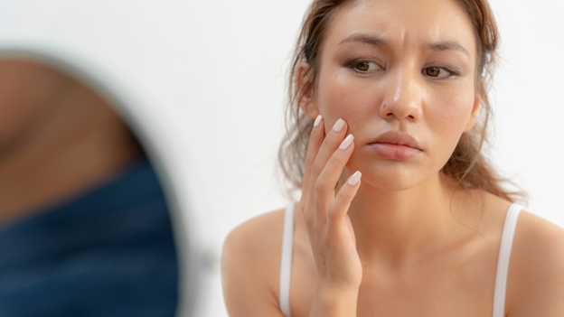
[[[334,153],[334,151],[339,147],[339,145],[343,142],[344,135],[348,126],[346,122],[339,118],[331,131],[325,136],[324,142],[319,148],[317,155],[315,156],[315,162],[312,165],[311,172],[310,172],[310,180],[309,180],[309,189],[310,195],[315,194],[316,196],[327,196],[333,198],[334,192],[333,191],[322,191],[322,192],[315,192],[315,183],[317,182],[317,178],[323,172],[327,161]]]

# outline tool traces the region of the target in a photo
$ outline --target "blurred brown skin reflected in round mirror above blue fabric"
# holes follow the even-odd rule
[[[0,61],[0,223],[107,181],[140,154],[127,126],[79,82],[33,61]]]

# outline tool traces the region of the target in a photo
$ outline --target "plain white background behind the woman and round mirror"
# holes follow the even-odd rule
[[[84,61],[174,135],[163,142],[216,258],[209,316],[226,316],[217,266],[223,239],[287,204],[277,146],[287,62],[308,3],[0,0],[0,46],[55,48]],[[529,210],[564,227],[564,3],[491,5],[502,34],[494,163],[530,193]]]

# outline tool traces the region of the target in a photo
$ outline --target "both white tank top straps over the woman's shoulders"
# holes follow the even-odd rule
[[[494,290],[494,312],[493,317],[503,317],[505,313],[505,286],[507,284],[507,269],[509,257],[511,256],[513,235],[517,218],[522,206],[513,203],[503,225],[502,244],[497,260],[497,272],[495,275]],[[292,249],[294,245],[294,204],[287,206],[284,213],[284,231],[282,236],[282,258],[280,261],[280,289],[278,302],[280,312],[286,317],[290,315],[290,277],[292,275]]]

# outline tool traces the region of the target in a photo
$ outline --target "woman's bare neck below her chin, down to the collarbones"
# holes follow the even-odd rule
[[[440,173],[404,191],[363,182],[348,213],[362,261],[400,266],[445,247],[459,226],[451,213],[455,191]]]

